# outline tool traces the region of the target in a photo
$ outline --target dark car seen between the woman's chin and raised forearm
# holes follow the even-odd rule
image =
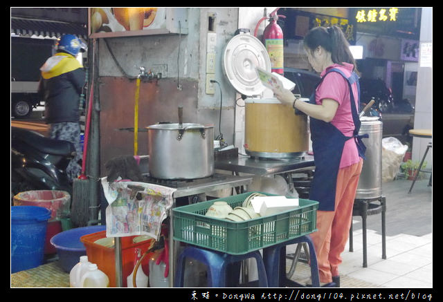
[[[299,94],[304,98],[308,98],[314,92],[316,84],[320,81],[320,75],[312,73],[308,70],[298,68],[284,68],[284,77],[296,84],[293,88],[293,94]]]

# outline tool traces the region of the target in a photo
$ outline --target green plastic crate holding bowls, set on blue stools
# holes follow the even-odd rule
[[[234,222],[205,216],[208,208],[216,201],[226,201],[234,209],[241,207],[246,197],[253,193],[255,192],[172,209],[174,240],[228,254],[246,254],[316,232],[318,202],[302,198],[299,199],[299,207],[296,209],[251,220]]]

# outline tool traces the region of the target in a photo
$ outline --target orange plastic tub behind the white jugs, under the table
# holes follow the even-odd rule
[[[96,240],[105,238],[106,231],[97,232],[95,234],[89,234],[82,236],[80,240],[84,243],[86,247],[86,252],[89,261],[96,263],[98,268],[105,272],[109,277],[109,287],[116,287],[116,261],[115,261],[115,250],[114,247],[105,247],[103,245],[98,245]],[[141,253],[145,253],[150,247],[152,240],[144,240],[139,243],[134,243],[134,238],[138,236],[126,236],[120,238],[121,249],[122,249],[122,283],[123,287],[127,287],[127,276],[131,274],[136,263],[134,263],[134,250],[136,248],[141,249]],[[143,269],[143,271],[148,272],[150,254],[147,254],[143,261],[138,267],[138,270]]]

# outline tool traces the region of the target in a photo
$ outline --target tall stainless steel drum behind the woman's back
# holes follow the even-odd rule
[[[383,123],[379,117],[361,117],[359,135],[368,133],[369,138],[363,138],[366,146],[363,169],[361,171],[357,199],[372,199],[381,196],[381,136]]]

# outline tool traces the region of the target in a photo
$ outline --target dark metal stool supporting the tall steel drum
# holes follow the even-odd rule
[[[373,203],[379,200],[379,204]],[[372,199],[354,200],[352,216],[361,216],[363,227],[363,267],[368,267],[368,251],[366,240],[366,218],[370,215],[381,213],[381,258],[386,259],[386,198],[381,196]],[[349,251],[354,252],[352,240],[352,223],[349,230]]]

